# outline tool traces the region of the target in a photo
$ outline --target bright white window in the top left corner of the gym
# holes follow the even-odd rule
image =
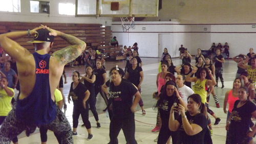
[[[1,0],[0,11],[20,12],[20,0]]]

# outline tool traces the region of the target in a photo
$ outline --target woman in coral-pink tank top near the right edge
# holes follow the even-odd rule
[[[236,78],[234,79],[234,82],[233,82],[233,88],[231,90],[228,90],[225,94],[223,111],[224,113],[227,113],[227,119],[233,110],[234,102],[238,100],[238,90],[240,87],[241,87],[241,79]],[[228,103],[228,112],[226,110],[227,103]]]

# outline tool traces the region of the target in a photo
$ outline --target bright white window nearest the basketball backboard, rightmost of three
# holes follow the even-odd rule
[[[75,15],[75,4],[59,3],[59,14]]]

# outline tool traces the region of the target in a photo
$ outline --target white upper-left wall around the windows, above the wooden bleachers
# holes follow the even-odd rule
[[[50,2],[50,14],[31,13],[30,1],[20,0],[20,13],[0,12],[0,21],[21,21],[21,22],[58,22],[58,23],[100,23],[111,26],[112,18],[75,17],[58,14],[58,3],[72,3],[75,0],[44,0]]]

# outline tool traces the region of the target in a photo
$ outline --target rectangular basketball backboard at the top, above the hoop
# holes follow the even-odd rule
[[[76,16],[156,17],[158,0],[76,0]]]

